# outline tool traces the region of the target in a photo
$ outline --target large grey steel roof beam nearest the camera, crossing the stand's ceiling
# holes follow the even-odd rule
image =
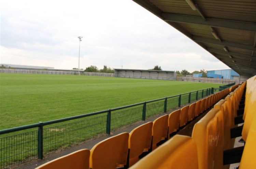
[[[198,16],[170,14],[170,13],[162,13],[162,18],[165,21],[171,21],[171,22],[193,23],[193,24],[208,25],[213,27],[226,27],[231,29],[256,32],[256,24],[253,22],[242,22],[242,21],[217,19],[217,18],[206,18],[206,21],[205,21]]]

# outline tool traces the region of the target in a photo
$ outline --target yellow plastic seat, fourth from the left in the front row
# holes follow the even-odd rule
[[[168,117],[169,115],[163,115],[153,122],[152,127],[152,150],[157,148],[157,143],[159,143],[163,139],[167,139],[168,134]]]

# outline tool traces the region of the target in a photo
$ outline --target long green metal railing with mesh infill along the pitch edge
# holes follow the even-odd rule
[[[96,138],[214,93],[215,88],[145,101],[57,120],[0,130],[0,168]],[[216,91],[216,90],[215,90]],[[79,120],[77,120],[79,119]],[[22,132],[22,133],[21,133]]]

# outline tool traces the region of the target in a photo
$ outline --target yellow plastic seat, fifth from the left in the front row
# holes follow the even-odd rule
[[[170,135],[179,130],[180,127],[180,113],[181,109],[175,110],[174,112],[171,112],[169,114],[168,118],[168,139],[170,138]]]

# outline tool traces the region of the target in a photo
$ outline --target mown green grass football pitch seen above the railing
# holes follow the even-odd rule
[[[0,73],[0,130],[219,87],[217,83]]]

